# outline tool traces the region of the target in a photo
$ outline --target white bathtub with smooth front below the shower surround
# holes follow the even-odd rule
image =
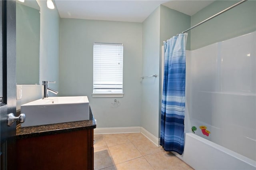
[[[256,161],[190,132],[184,153],[173,153],[196,170],[256,170]]]

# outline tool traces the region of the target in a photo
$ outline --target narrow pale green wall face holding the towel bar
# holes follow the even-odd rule
[[[159,109],[159,53],[160,53],[160,6],[143,22],[142,75],[154,75],[141,80],[142,113],[141,127],[158,138]]]

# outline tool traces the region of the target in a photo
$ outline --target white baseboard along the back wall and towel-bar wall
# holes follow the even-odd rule
[[[115,134],[115,133],[142,133],[156,146],[160,146],[160,139],[148,132],[143,127],[116,127],[116,128],[95,128],[94,134]]]

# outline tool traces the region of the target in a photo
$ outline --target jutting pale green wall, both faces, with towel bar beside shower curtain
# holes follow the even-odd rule
[[[143,22],[142,75],[158,77],[147,78],[142,84],[141,126],[159,138],[162,100],[162,45],[163,41],[176,36],[190,27],[190,16],[158,6]],[[189,36],[188,36],[189,37]],[[190,48],[188,38],[187,48]]]

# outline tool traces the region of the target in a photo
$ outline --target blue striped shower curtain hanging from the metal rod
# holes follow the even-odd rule
[[[160,145],[166,151],[184,150],[186,34],[164,42],[164,83]]]

